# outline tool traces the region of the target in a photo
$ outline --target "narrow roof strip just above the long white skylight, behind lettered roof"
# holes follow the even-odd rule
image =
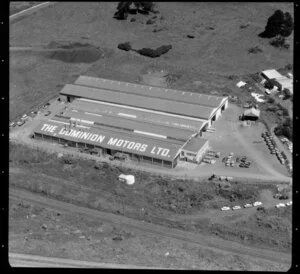
[[[149,123],[140,122],[132,119],[126,119],[123,117],[113,117],[113,116],[106,116],[106,115],[100,117],[91,114],[86,114],[82,111],[72,112],[72,110],[66,111],[64,115],[67,117],[73,117],[80,120],[93,121],[99,125],[105,125],[108,127],[115,127],[115,128],[125,129],[125,130],[127,129],[131,131],[137,130],[138,132],[139,131],[145,132],[145,134],[146,132],[148,132],[150,134],[157,134],[157,135],[165,136],[166,138],[170,137],[170,138],[175,138],[184,141],[188,140],[189,137],[192,135],[192,132],[187,130],[163,126],[163,125],[149,124]],[[158,137],[158,138],[163,138],[163,137]]]

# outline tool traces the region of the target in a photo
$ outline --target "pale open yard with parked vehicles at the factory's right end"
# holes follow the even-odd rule
[[[261,136],[266,131],[265,126],[261,123],[242,126],[238,120],[242,111],[241,108],[230,104],[223,116],[213,124],[216,131],[203,134],[203,137],[209,140],[212,150],[220,152],[220,158],[216,159],[215,164],[202,163],[197,169],[205,168],[212,173],[216,171],[224,174],[229,170],[230,173],[237,174],[247,170],[256,174],[288,176],[286,167],[278,161],[276,154],[271,154]],[[240,167],[241,161],[244,164]]]

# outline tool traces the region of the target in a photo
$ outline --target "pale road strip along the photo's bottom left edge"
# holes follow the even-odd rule
[[[44,256],[19,254],[19,253],[9,253],[9,264],[12,267],[164,269],[158,267],[98,263],[98,262],[44,257]]]

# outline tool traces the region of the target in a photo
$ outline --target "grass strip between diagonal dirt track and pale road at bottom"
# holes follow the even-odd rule
[[[9,216],[10,252],[174,269],[286,270],[280,263],[230,253],[224,256],[193,244],[128,231],[20,200],[10,200]],[[123,240],[113,240],[116,236]]]

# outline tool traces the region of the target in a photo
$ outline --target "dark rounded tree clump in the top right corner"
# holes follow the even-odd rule
[[[290,13],[283,13],[281,10],[276,10],[269,17],[265,30],[259,34],[262,38],[272,38],[276,35],[288,37],[294,29],[293,18]]]

